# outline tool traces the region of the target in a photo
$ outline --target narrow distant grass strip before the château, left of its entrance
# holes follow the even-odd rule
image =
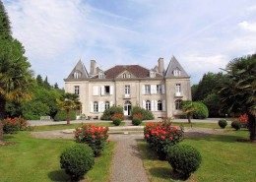
[[[114,126],[112,122],[101,122],[101,123],[83,123],[83,124],[93,124],[95,126],[104,126],[111,127]],[[59,125],[44,125],[44,126],[34,126],[32,127],[32,131],[34,132],[42,132],[42,131],[51,131],[51,130],[65,130],[65,129],[75,129],[77,127],[81,127],[81,123],[73,123],[70,125],[59,124]],[[120,124],[120,126],[124,126],[124,122]]]

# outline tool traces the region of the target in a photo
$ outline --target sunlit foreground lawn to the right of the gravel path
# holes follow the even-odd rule
[[[184,139],[181,143],[196,148],[203,159],[198,171],[187,181],[255,181],[256,144],[236,142],[237,139],[247,138],[248,131],[226,130],[225,135]],[[178,181],[172,177],[168,162],[160,161],[146,142],[139,142],[139,148],[151,181]]]

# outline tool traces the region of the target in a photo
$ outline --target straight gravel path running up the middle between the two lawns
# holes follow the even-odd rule
[[[116,142],[110,181],[149,182],[137,146],[137,142],[143,139],[143,134],[110,135],[109,139]]]

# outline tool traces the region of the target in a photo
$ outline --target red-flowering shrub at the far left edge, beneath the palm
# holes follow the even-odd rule
[[[3,131],[5,134],[13,134],[20,130],[27,130],[29,124],[26,119],[21,117],[6,118],[3,120]]]

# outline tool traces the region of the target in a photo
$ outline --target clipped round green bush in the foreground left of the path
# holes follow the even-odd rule
[[[60,155],[60,166],[65,169],[72,180],[83,178],[93,168],[94,164],[94,152],[86,144],[77,144],[66,149]]]

